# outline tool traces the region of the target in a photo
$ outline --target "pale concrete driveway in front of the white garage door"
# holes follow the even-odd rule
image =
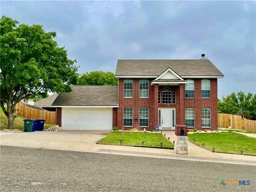
[[[99,151],[96,142],[110,131],[36,131],[1,134],[5,146],[37,147],[74,151]]]

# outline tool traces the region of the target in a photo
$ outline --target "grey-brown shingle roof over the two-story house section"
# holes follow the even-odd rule
[[[159,76],[167,68],[180,76],[224,76],[208,59],[118,60],[116,76]]]

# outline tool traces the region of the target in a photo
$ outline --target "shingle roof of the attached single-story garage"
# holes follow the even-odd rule
[[[118,106],[118,85],[74,85],[60,93],[54,106]]]

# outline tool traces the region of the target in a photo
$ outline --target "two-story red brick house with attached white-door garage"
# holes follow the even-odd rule
[[[203,54],[198,60],[118,60],[115,75],[118,86],[107,89],[102,89],[106,86],[76,86],[74,93],[60,94],[53,103],[58,107],[58,124],[63,126],[63,108],[66,108],[66,117],[72,119],[78,107],[85,115],[89,115],[90,110],[94,113],[97,107],[94,115],[109,122],[102,124],[106,129],[118,126],[119,129],[154,130],[159,126],[162,130],[174,130],[175,124],[186,124],[198,130],[217,130],[217,79],[223,74]],[[72,94],[84,101],[74,105]],[[104,98],[104,95],[111,97]],[[105,117],[105,113],[111,115]],[[81,119],[79,129],[89,128],[85,125],[89,120]],[[99,120],[91,119],[89,124],[96,122]],[[103,129],[102,125],[94,127]]]

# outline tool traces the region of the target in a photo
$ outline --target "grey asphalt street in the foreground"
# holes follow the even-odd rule
[[[255,166],[1,146],[1,191],[253,191]],[[221,180],[250,180],[248,186]]]

